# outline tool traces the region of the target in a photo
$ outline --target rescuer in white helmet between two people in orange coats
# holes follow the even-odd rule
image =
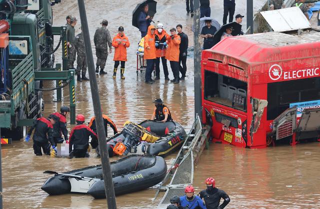
[[[163,67],[163,73],[164,73],[164,79],[169,80],[169,72],[168,67],[166,65],[166,59],[165,59],[165,50],[166,50],[166,37],[168,37],[169,34],[163,29],[163,24],[158,23],[156,26],[154,39],[155,39],[155,80],[160,79],[160,59],[162,61],[162,67]]]

